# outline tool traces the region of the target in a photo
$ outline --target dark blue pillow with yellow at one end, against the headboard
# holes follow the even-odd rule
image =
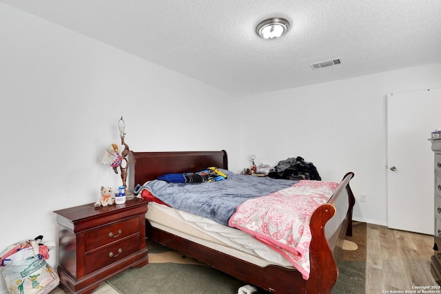
[[[165,182],[216,182],[218,180],[225,180],[227,175],[216,167],[209,167],[203,171],[198,171],[196,173],[185,173],[185,174],[165,174],[159,176],[158,180],[165,180]]]

